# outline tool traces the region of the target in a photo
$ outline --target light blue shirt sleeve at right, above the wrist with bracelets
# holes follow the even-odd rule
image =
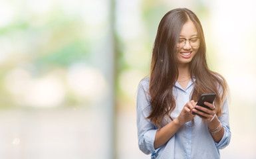
[[[227,104],[227,98],[223,102],[222,107],[222,115],[219,117],[219,121],[221,121],[222,127],[224,128],[224,134],[219,143],[215,142],[215,145],[219,149],[225,148],[227,145],[229,145],[230,139],[231,139],[231,131],[229,127],[229,109]]]

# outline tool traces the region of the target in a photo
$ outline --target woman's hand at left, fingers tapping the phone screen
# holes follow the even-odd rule
[[[191,121],[193,117],[195,117],[195,115],[192,114],[192,109],[195,108],[195,105],[196,103],[193,100],[186,103],[186,105],[182,109],[182,112],[176,118],[179,125],[184,125],[184,123]]]

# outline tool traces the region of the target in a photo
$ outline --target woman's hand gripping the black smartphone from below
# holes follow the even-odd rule
[[[211,121],[213,121],[214,117],[215,117],[215,106],[214,106],[214,102],[213,103],[208,103],[208,102],[204,102],[204,105],[207,105],[209,107],[209,109],[205,108],[205,107],[201,107],[199,105],[195,105],[195,108],[200,109],[201,111],[198,111],[197,109],[192,109],[193,112],[197,113],[199,117],[201,117],[201,119],[203,119],[203,121],[205,121],[206,123],[209,123]]]

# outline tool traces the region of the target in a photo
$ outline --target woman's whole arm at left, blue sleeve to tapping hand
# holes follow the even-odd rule
[[[188,102],[182,109],[179,117],[168,123],[161,129],[157,129],[149,119],[151,107],[146,96],[147,89],[143,86],[143,81],[138,87],[137,94],[137,128],[138,128],[138,144],[140,150],[145,154],[156,152],[157,148],[163,146],[178,129],[186,122],[191,121],[195,115],[192,115],[192,109],[195,102]]]

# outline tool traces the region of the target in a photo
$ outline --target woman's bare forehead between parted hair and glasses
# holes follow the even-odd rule
[[[197,36],[197,28],[195,27],[192,21],[187,21],[182,26],[182,30],[180,31],[180,36],[185,38],[188,38],[191,36]]]

